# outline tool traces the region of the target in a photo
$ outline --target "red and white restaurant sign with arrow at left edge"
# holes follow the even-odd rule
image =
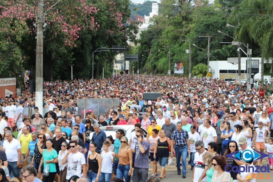
[[[0,78],[0,97],[12,95],[15,98],[16,78]]]

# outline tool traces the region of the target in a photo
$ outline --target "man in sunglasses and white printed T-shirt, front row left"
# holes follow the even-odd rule
[[[78,152],[76,146],[78,143],[75,140],[71,140],[69,147],[70,149],[62,159],[62,165],[67,165],[66,180],[73,175],[81,177],[83,170],[83,177],[86,178],[86,162],[85,157],[82,153]]]

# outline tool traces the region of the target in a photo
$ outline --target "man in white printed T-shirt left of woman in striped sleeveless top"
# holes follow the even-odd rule
[[[210,142],[217,141],[217,134],[214,127],[211,126],[211,120],[206,119],[204,121],[204,133],[202,135],[202,141],[204,142],[204,147],[207,150],[207,144]]]

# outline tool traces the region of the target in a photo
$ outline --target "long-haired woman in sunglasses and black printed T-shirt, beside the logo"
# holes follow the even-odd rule
[[[235,125],[235,126],[240,126],[240,125]],[[234,132],[234,133],[235,133],[235,132]],[[239,139],[238,139],[238,140],[239,140]],[[229,141],[229,142],[227,143],[227,149],[226,149],[226,151],[225,151],[225,153],[224,153],[224,156],[225,156],[225,158],[226,158],[227,164],[230,164],[230,165],[231,165],[231,167],[229,167],[229,166],[227,167],[227,170],[230,170],[230,171],[231,171],[231,172],[230,172],[230,175],[231,175],[233,181],[234,181],[234,180],[237,180],[237,174],[238,174],[238,172],[233,172],[233,171],[231,170],[231,168],[234,167],[234,166],[239,167],[239,166],[243,165],[244,163],[243,163],[242,161],[240,161],[240,160],[234,160],[234,159],[231,158],[231,157],[226,157],[226,155],[227,155],[227,154],[230,154],[230,153],[233,153],[233,152],[235,152],[235,151],[238,151],[238,150],[240,150],[240,149],[238,148],[237,142],[234,141],[234,140],[231,140],[231,141]],[[234,182],[235,182],[235,181],[234,181]]]

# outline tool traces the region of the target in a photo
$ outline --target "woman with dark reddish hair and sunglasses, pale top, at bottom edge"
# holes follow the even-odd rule
[[[225,171],[227,161],[224,156],[214,156],[212,158],[213,175],[211,182],[230,182],[231,175]]]

